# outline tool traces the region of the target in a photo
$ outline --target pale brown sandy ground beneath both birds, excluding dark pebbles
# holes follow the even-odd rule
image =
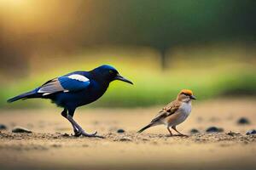
[[[186,122],[177,127],[189,138],[166,136],[166,127],[146,125],[160,107],[79,109],[74,116],[85,130],[106,139],[73,137],[61,109],[1,111],[0,169],[256,169],[255,99],[218,99],[195,103]],[[247,117],[248,125],[237,119]],[[15,126],[33,133],[11,133]],[[206,133],[207,127],[224,128]],[[122,128],[125,133],[117,133]],[[191,128],[200,133],[190,134]],[[230,131],[234,133],[229,133]]]

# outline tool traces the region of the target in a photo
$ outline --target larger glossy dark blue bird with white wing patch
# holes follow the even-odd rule
[[[63,108],[61,116],[64,116],[73,126],[74,136],[98,137],[95,133],[86,133],[79,123],[73,119],[76,108],[88,105],[107,91],[109,83],[114,80],[133,84],[130,80],[120,76],[111,65],[101,65],[91,71],[73,71],[61,77],[55,77],[45,82],[32,91],[20,94],[8,99],[8,102],[15,102],[19,99],[50,99],[52,103]]]

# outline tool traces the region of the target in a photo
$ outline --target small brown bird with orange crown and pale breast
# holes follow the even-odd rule
[[[148,123],[147,126],[140,129],[137,133],[142,133],[149,127],[154,127],[157,125],[164,124],[167,127],[170,136],[172,136],[172,131],[176,131],[181,136],[186,136],[183,133],[177,131],[176,126],[184,122],[191,112],[191,101],[195,99],[193,92],[189,89],[183,89],[177,94],[177,99],[173,100],[170,104],[166,105],[159,113],[154,117],[154,119]]]

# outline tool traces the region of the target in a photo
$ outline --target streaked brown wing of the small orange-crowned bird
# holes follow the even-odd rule
[[[159,122],[160,120],[162,120],[163,118],[166,118],[166,116],[170,116],[173,113],[175,113],[179,106],[181,105],[181,103],[177,100],[172,101],[170,104],[166,105],[166,107],[164,107],[155,117],[154,119],[151,121],[152,123],[154,122]]]

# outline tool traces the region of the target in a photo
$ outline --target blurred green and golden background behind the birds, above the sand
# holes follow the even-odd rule
[[[91,107],[166,105],[183,88],[199,100],[256,96],[256,1],[1,0],[0,108],[70,71],[109,64],[113,82]]]

